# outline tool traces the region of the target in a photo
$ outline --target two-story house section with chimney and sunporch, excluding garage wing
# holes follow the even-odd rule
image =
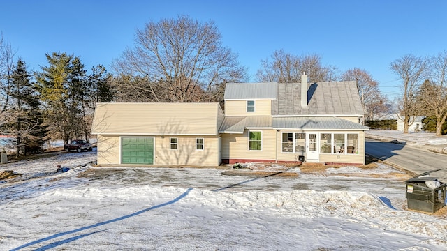
[[[365,162],[355,82],[227,84],[224,163]]]

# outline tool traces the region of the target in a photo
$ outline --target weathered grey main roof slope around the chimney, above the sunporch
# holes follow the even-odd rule
[[[278,83],[278,97],[272,100],[275,115],[358,115],[363,107],[356,82],[318,82],[307,89],[307,107],[301,106],[301,83]]]

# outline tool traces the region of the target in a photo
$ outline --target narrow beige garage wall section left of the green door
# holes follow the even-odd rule
[[[119,164],[119,136],[98,135],[98,165]]]

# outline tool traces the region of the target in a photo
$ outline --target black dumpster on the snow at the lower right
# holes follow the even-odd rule
[[[446,204],[446,183],[430,177],[430,173],[441,169],[425,172],[406,183],[406,202],[409,209],[434,213]]]

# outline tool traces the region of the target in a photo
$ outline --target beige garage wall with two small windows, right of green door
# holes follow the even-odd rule
[[[177,137],[177,149],[170,149],[170,138]],[[196,150],[196,139],[203,138],[203,151]],[[156,137],[154,165],[195,165],[216,167],[219,163],[219,137]]]

